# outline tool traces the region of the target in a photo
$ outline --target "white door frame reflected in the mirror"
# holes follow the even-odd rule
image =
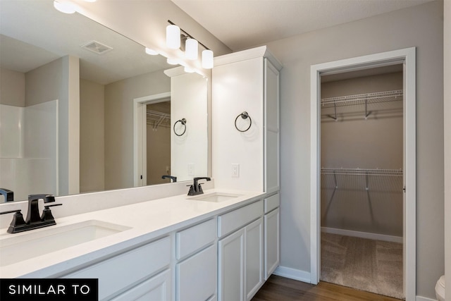
[[[147,104],[167,102],[171,92],[133,99],[133,186],[147,185]]]

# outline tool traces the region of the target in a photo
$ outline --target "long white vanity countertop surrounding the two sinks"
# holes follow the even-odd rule
[[[205,190],[204,195],[211,192],[232,193],[240,195],[222,202],[204,202],[190,199],[187,195],[154,199],[148,202],[129,204],[111,209],[92,211],[85,214],[66,216],[58,219],[56,225],[47,228],[25,231],[23,233],[6,233],[0,229],[0,246],[4,239],[11,235],[29,235],[49,228],[68,226],[82,221],[104,221],[130,227],[130,229],[81,243],[63,250],[49,252],[39,257],[27,259],[16,264],[2,266],[0,278],[44,278],[58,277],[66,274],[63,271],[79,269],[81,265],[98,261],[114,253],[127,250],[135,245],[149,242],[192,223],[197,223],[211,216],[242,207],[265,196],[264,192],[247,192],[235,190]],[[29,235],[30,236],[30,235]],[[32,238],[31,238],[32,239]],[[27,250],[33,252],[33,250]],[[1,258],[0,258],[1,262]]]

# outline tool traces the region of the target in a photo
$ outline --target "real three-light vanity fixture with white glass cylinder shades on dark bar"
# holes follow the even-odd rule
[[[170,49],[181,49],[185,51],[185,58],[195,61],[199,56],[199,44],[204,47],[202,51],[202,68],[211,69],[214,66],[214,53],[208,49],[204,44],[194,39],[192,35],[180,29],[175,23],[168,20],[169,25],[166,27],[166,46]],[[181,42],[185,45],[180,47]]]

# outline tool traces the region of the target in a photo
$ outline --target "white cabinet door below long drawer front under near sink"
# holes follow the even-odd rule
[[[169,301],[171,300],[171,270],[143,281],[111,301]]]

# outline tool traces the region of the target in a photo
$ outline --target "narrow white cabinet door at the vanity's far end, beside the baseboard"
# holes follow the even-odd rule
[[[279,264],[279,209],[275,209],[264,216],[265,226],[265,280],[273,273]]]

